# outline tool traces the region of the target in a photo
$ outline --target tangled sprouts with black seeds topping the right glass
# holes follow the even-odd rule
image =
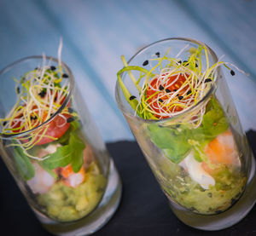
[[[230,67],[227,65],[234,66],[223,61],[210,65],[208,50],[205,45],[198,46],[198,48],[188,48],[189,44],[180,50],[177,57],[173,58],[167,56],[172,51],[171,49],[167,49],[166,54],[162,57],[160,57],[160,54],[157,57],[154,55],[148,59],[148,63],[145,65],[150,66],[149,70],[141,66],[129,66],[125,57],[121,56],[124,68],[117,74],[119,86],[125,95],[126,101],[135,110],[138,117],[145,119],[172,118],[185,112],[189,107],[195,106],[201,101],[207,95],[209,89],[215,86],[216,72],[219,66],[224,65],[229,70]],[[179,56],[184,51],[189,52],[189,56],[187,60],[182,61]],[[203,59],[205,63],[202,62]],[[141,72],[141,74],[136,78],[132,71]],[[124,72],[128,73],[138,91],[139,97],[137,99],[129,99],[132,96],[131,92],[126,88],[121,78]],[[175,83],[181,76],[185,78],[185,81],[177,86]],[[156,81],[155,86],[152,85],[153,80]],[[177,86],[177,89],[168,89],[168,92],[166,92],[166,89],[162,89],[172,85]],[[148,90],[154,93],[147,95]],[[190,120],[194,128],[199,127],[204,112],[205,107],[201,107],[201,110],[197,111],[196,114],[190,112],[187,121]]]

